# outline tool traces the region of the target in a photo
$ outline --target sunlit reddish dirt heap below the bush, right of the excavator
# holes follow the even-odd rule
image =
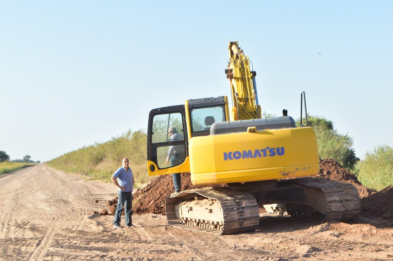
[[[340,163],[334,161],[331,158],[320,160],[320,167],[321,169],[320,173],[317,175],[318,177],[327,178],[338,182],[351,183],[358,189],[360,198],[370,196],[376,192],[371,188],[363,186],[354,174],[343,168]]]

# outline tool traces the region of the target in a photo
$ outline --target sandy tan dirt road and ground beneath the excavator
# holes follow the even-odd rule
[[[137,227],[116,229],[113,216],[92,214],[115,193],[42,164],[0,176],[0,260],[393,260],[393,228],[383,219],[264,218],[255,232],[215,236],[143,214],[132,217]]]

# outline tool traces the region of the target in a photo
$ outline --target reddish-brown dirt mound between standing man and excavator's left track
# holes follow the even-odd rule
[[[182,191],[203,187],[227,187],[226,184],[195,186],[191,183],[190,173],[180,174]],[[153,179],[150,184],[139,189],[134,194],[138,203],[132,208],[135,214],[165,214],[165,198],[174,192],[172,175],[162,175]]]

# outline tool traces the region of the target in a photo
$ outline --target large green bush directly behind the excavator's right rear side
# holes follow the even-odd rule
[[[334,129],[331,120],[313,115],[307,117],[308,126],[313,127],[317,135],[320,158],[332,158],[343,167],[353,170],[355,163],[359,160],[353,149],[353,138],[348,134],[340,134]],[[303,124],[305,124],[305,119],[303,119]],[[296,125],[300,125],[300,119],[297,120]]]

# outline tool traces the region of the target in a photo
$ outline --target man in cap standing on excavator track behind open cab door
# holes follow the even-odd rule
[[[173,126],[168,128],[168,135],[170,141],[175,141],[175,140],[184,140],[184,136],[180,133],[178,133],[177,129]],[[183,145],[175,145],[175,146],[170,146],[168,150],[168,156],[167,156],[167,164],[171,163],[171,166],[176,166],[179,165],[184,161],[184,146]],[[173,175],[173,186],[175,193],[180,192],[182,185],[180,182],[180,173],[174,173]]]

